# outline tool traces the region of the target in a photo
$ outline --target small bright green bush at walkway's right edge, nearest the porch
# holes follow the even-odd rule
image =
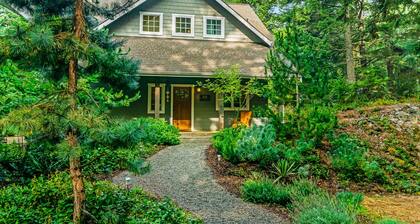
[[[213,136],[212,143],[214,147],[227,161],[232,163],[239,162],[240,159],[236,145],[238,140],[242,137],[244,130],[244,126],[238,126],[236,128],[225,128]]]

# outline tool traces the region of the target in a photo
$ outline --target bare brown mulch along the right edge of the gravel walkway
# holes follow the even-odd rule
[[[258,168],[249,164],[234,165],[223,158],[220,158],[219,161],[217,155],[217,150],[213,146],[210,146],[206,150],[207,164],[212,169],[216,182],[226,191],[237,197],[241,197],[240,189],[246,179],[245,176],[250,175],[252,171],[256,171]],[[262,204],[261,206],[278,215],[280,218],[290,221],[290,216],[286,208],[268,204]]]

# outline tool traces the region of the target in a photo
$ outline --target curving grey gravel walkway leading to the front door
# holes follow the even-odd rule
[[[151,171],[137,177],[123,172],[114,178],[124,183],[128,175],[134,185],[160,197],[168,196],[179,206],[201,216],[205,223],[283,223],[272,212],[242,201],[225,191],[213,179],[206,164],[207,139],[188,139],[168,147],[149,159]]]

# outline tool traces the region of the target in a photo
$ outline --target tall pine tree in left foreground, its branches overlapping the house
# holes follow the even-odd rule
[[[41,124],[35,131],[44,129],[47,135],[42,138],[67,150],[74,194],[73,222],[81,223],[85,200],[80,163],[83,134],[106,108],[133,100],[118,89],[136,87],[138,63],[120,50],[122,42],[112,40],[106,30],[93,29],[97,24],[92,22],[93,15],[108,15],[107,9],[85,4],[84,0],[10,2],[33,17],[29,26],[18,26],[0,37],[1,45],[6,47],[0,50],[0,57],[14,60],[27,70],[39,71],[55,83],[42,102],[31,110],[23,108],[14,113],[30,113],[23,116],[26,120],[21,123]],[[16,118],[12,114],[7,119]]]

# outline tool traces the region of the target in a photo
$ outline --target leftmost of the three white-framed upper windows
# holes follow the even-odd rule
[[[163,13],[140,12],[140,34],[163,35]]]

